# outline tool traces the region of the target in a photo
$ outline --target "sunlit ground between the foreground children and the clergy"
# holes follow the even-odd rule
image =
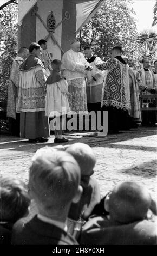
[[[123,131],[118,135],[93,137],[94,133],[68,133],[69,142],[89,144],[97,158],[94,176],[100,184],[101,194],[107,193],[117,182],[132,180],[145,185],[157,195],[156,129],[144,128]],[[48,143],[30,144],[26,140],[0,135],[0,174],[15,175],[28,180],[31,157],[38,148],[53,147],[54,136]]]

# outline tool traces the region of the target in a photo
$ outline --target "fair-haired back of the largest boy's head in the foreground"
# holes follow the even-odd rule
[[[76,195],[80,176],[80,167],[73,156],[50,147],[43,148],[32,159],[30,193],[44,209],[62,210]]]

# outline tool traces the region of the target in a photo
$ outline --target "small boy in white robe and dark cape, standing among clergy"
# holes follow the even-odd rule
[[[70,112],[70,107],[67,98],[68,83],[64,76],[59,73],[61,65],[61,60],[53,60],[51,63],[53,71],[46,81],[45,115],[55,117],[50,122],[50,128],[55,132],[55,143],[68,142],[68,139],[62,137],[62,127],[66,119],[66,114]]]

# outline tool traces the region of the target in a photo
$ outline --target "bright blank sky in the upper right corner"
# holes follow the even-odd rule
[[[156,0],[134,0],[133,8],[136,12],[138,31],[144,29],[153,29],[157,32],[157,25],[152,27],[153,23],[153,7]]]

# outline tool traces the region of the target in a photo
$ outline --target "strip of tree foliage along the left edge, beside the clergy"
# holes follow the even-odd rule
[[[17,54],[17,4],[0,11],[0,100],[6,100],[9,74]]]

